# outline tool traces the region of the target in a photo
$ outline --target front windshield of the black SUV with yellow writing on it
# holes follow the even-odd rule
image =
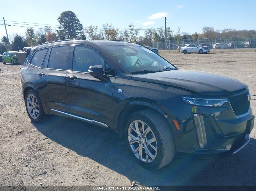
[[[165,59],[142,46],[102,46],[128,72],[158,72],[175,68]]]

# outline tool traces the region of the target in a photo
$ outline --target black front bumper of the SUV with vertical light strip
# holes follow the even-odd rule
[[[225,157],[238,152],[249,142],[254,127],[251,108],[237,116],[229,102],[222,107],[185,104],[182,110],[180,115],[175,113],[180,128],[177,131],[177,156],[196,159]]]

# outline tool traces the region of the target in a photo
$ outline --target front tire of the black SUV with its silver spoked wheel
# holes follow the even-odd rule
[[[142,122],[145,124],[144,129],[147,132],[145,137],[140,137],[134,130],[136,122],[138,126],[142,126]],[[138,131],[140,135],[143,135],[141,128],[138,128]],[[132,157],[146,169],[157,170],[164,167],[175,155],[175,140],[171,127],[163,116],[154,110],[146,109],[132,113],[126,123],[125,139]],[[155,141],[149,142],[149,140]],[[152,158],[150,154],[146,154],[146,149],[151,153]]]

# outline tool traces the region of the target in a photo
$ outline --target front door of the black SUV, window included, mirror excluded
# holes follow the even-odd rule
[[[112,126],[112,95],[115,70],[94,49],[72,46],[66,77],[67,109],[71,115],[100,125]],[[92,65],[102,65],[105,75],[99,79],[88,73]]]

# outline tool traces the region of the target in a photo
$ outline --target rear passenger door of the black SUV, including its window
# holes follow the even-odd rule
[[[35,84],[40,91],[45,109],[67,111],[65,81],[69,49],[70,46],[49,48],[42,67],[35,76]]]

